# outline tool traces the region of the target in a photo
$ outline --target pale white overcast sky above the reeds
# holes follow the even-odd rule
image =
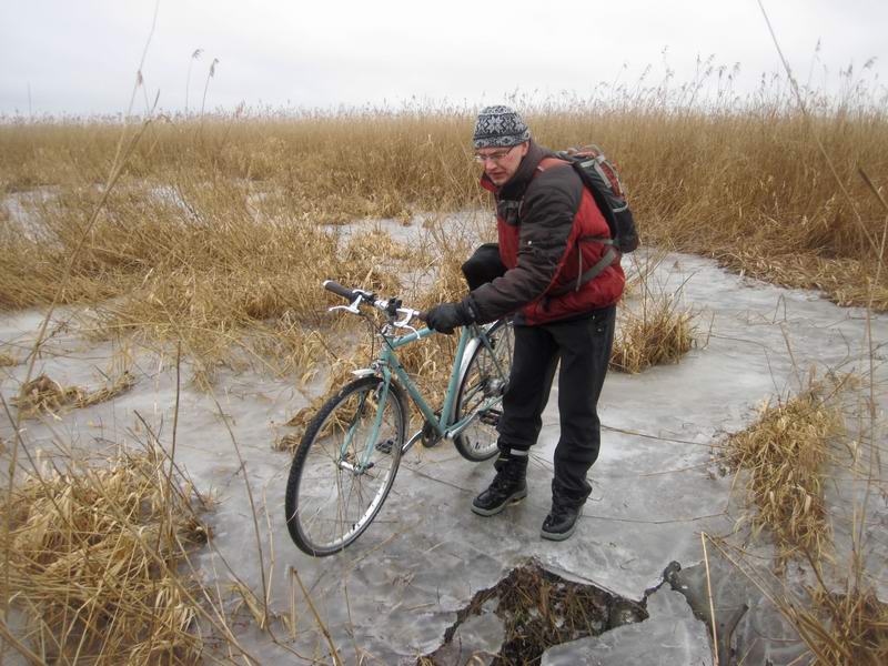
[[[764,0],[803,81],[840,69],[888,80],[888,0]],[[125,111],[154,0],[0,0],[0,114]],[[818,40],[820,51],[815,56]],[[199,59],[192,53],[201,49]],[[780,70],[756,0],[161,0],[142,74],[175,111],[397,105],[416,97],[474,107],[513,91],[589,95],[697,58],[740,65],[737,88]],[[189,69],[191,68],[190,85]],[[30,100],[29,100],[30,94]],[[140,91],[134,111],[145,108]]]

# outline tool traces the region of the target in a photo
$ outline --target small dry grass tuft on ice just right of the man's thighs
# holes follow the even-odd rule
[[[694,313],[669,295],[645,296],[639,313],[624,306],[610,367],[636,374],[652,365],[678,363],[695,342]]]

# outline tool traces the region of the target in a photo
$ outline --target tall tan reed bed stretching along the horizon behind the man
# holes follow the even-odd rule
[[[813,119],[795,109],[779,83],[743,103],[687,105],[688,91],[649,88],[607,101],[537,102],[523,111],[546,145],[605,147],[622,167],[647,242],[860,303],[868,266],[885,253],[884,214],[857,172],[864,167],[877,184],[888,176],[885,100],[872,99],[875,92],[813,97]],[[69,297],[107,296],[112,284],[139,283],[158,252],[169,254],[173,244],[181,258],[215,263],[214,250],[236,236],[229,225],[248,228],[242,233],[256,243],[251,259],[262,261],[268,244],[282,240],[274,229],[282,214],[286,225],[313,225],[476,206],[484,198],[467,159],[471,127],[470,110],[446,107],[155,123],[130,161],[129,182],[95,231]],[[839,182],[809,140],[811,131]],[[53,275],[44,264],[69,246],[118,133],[101,122],[0,125],[0,190],[48,189],[51,200],[33,208],[57,220],[26,239],[4,234],[13,238],[3,239],[3,249],[18,259],[0,265],[8,285],[0,304],[44,297],[40,285]],[[203,228],[204,236],[183,238],[183,226]],[[145,238],[169,242],[147,252]],[[880,307],[888,307],[886,284],[876,292]]]

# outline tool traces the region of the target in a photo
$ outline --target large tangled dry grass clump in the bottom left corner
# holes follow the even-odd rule
[[[3,495],[3,594],[43,663],[192,665],[192,585],[176,573],[206,528],[157,450],[29,476]],[[169,481],[169,484],[168,484]],[[6,587],[6,583],[9,587]]]

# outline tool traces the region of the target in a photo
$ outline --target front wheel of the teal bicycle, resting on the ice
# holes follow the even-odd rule
[[[354,542],[392,488],[407,411],[396,384],[390,383],[384,402],[383,390],[375,376],[351,382],[305,428],[290,467],[284,508],[293,543],[309,555],[332,555]]]

